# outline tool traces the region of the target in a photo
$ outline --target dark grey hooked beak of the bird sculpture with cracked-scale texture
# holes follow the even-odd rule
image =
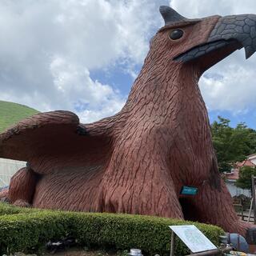
[[[256,51],[256,15],[230,15],[218,19],[206,43],[195,46],[174,57],[175,61],[190,62],[216,50],[233,46],[245,48],[246,58]]]

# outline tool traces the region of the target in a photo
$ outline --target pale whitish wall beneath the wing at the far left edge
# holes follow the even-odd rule
[[[26,162],[0,158],[0,187],[9,186],[10,178],[25,166]]]

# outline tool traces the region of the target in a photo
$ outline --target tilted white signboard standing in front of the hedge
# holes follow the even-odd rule
[[[192,253],[217,249],[216,246],[194,225],[170,226]]]

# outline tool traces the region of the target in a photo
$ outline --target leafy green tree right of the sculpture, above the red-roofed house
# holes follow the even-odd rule
[[[242,161],[256,152],[256,131],[248,128],[244,122],[232,128],[229,119],[218,116],[218,121],[211,125],[211,131],[221,172],[230,171],[234,162]]]

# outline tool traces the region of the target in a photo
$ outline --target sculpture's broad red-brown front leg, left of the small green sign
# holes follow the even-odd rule
[[[158,140],[120,140],[102,178],[102,211],[183,218]]]

